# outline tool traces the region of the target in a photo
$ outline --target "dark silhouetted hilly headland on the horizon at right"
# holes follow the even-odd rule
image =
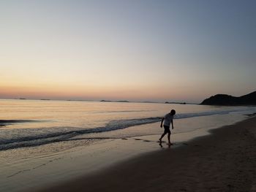
[[[256,105],[256,91],[239,97],[225,94],[217,94],[215,96],[211,96],[210,98],[203,100],[201,104],[225,106]]]

